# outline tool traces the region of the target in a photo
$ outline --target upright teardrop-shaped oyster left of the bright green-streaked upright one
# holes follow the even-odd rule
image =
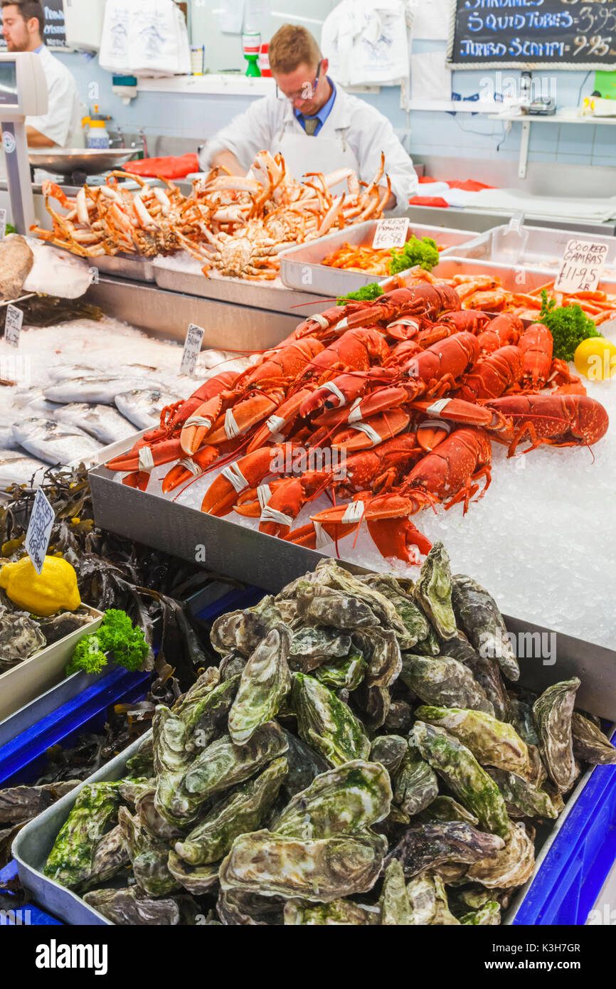
[[[257,728],[278,714],[291,688],[290,649],[291,632],[278,625],[250,655],[228,714],[229,735],[236,745],[248,742]]]

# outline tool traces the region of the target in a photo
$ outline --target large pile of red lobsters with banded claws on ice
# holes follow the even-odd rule
[[[170,492],[223,466],[203,511],[257,517],[262,532],[311,548],[365,521],[384,556],[416,562],[413,547],[430,543],[410,516],[437,502],[466,512],[489,485],[492,441],[513,456],[522,440],[529,452],[605,434],[607,412],[552,350],[546,326],[463,310],[450,286],[398,288],[309,316],[254,367],[165,409],[108,467],[144,490],[155,466],[176,461]],[[329,451],[325,467],[307,469],[307,450]],[[294,528],[323,492],[331,507]]]

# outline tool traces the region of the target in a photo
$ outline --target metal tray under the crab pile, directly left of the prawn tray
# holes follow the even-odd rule
[[[193,258],[187,262],[186,271],[179,270],[173,260],[164,257],[156,258],[153,269],[154,280],[161,289],[236,306],[297,315],[298,322],[302,321],[305,314],[312,312],[311,305],[322,309],[322,300],[312,292],[292,292],[285,285],[268,281],[253,282],[241,278],[220,278],[216,275],[207,278],[199,262]]]

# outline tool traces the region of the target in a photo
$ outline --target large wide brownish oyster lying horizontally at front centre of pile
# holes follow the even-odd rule
[[[255,831],[233,842],[220,865],[220,888],[330,903],[372,889],[387,844],[370,832],[300,841]]]

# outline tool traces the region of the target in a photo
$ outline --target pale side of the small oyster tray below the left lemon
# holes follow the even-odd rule
[[[92,607],[88,607],[88,611],[92,621],[87,625],[0,675],[0,726],[5,718],[11,717],[64,678],[66,664],[79,640],[95,632],[103,621],[102,611]]]

